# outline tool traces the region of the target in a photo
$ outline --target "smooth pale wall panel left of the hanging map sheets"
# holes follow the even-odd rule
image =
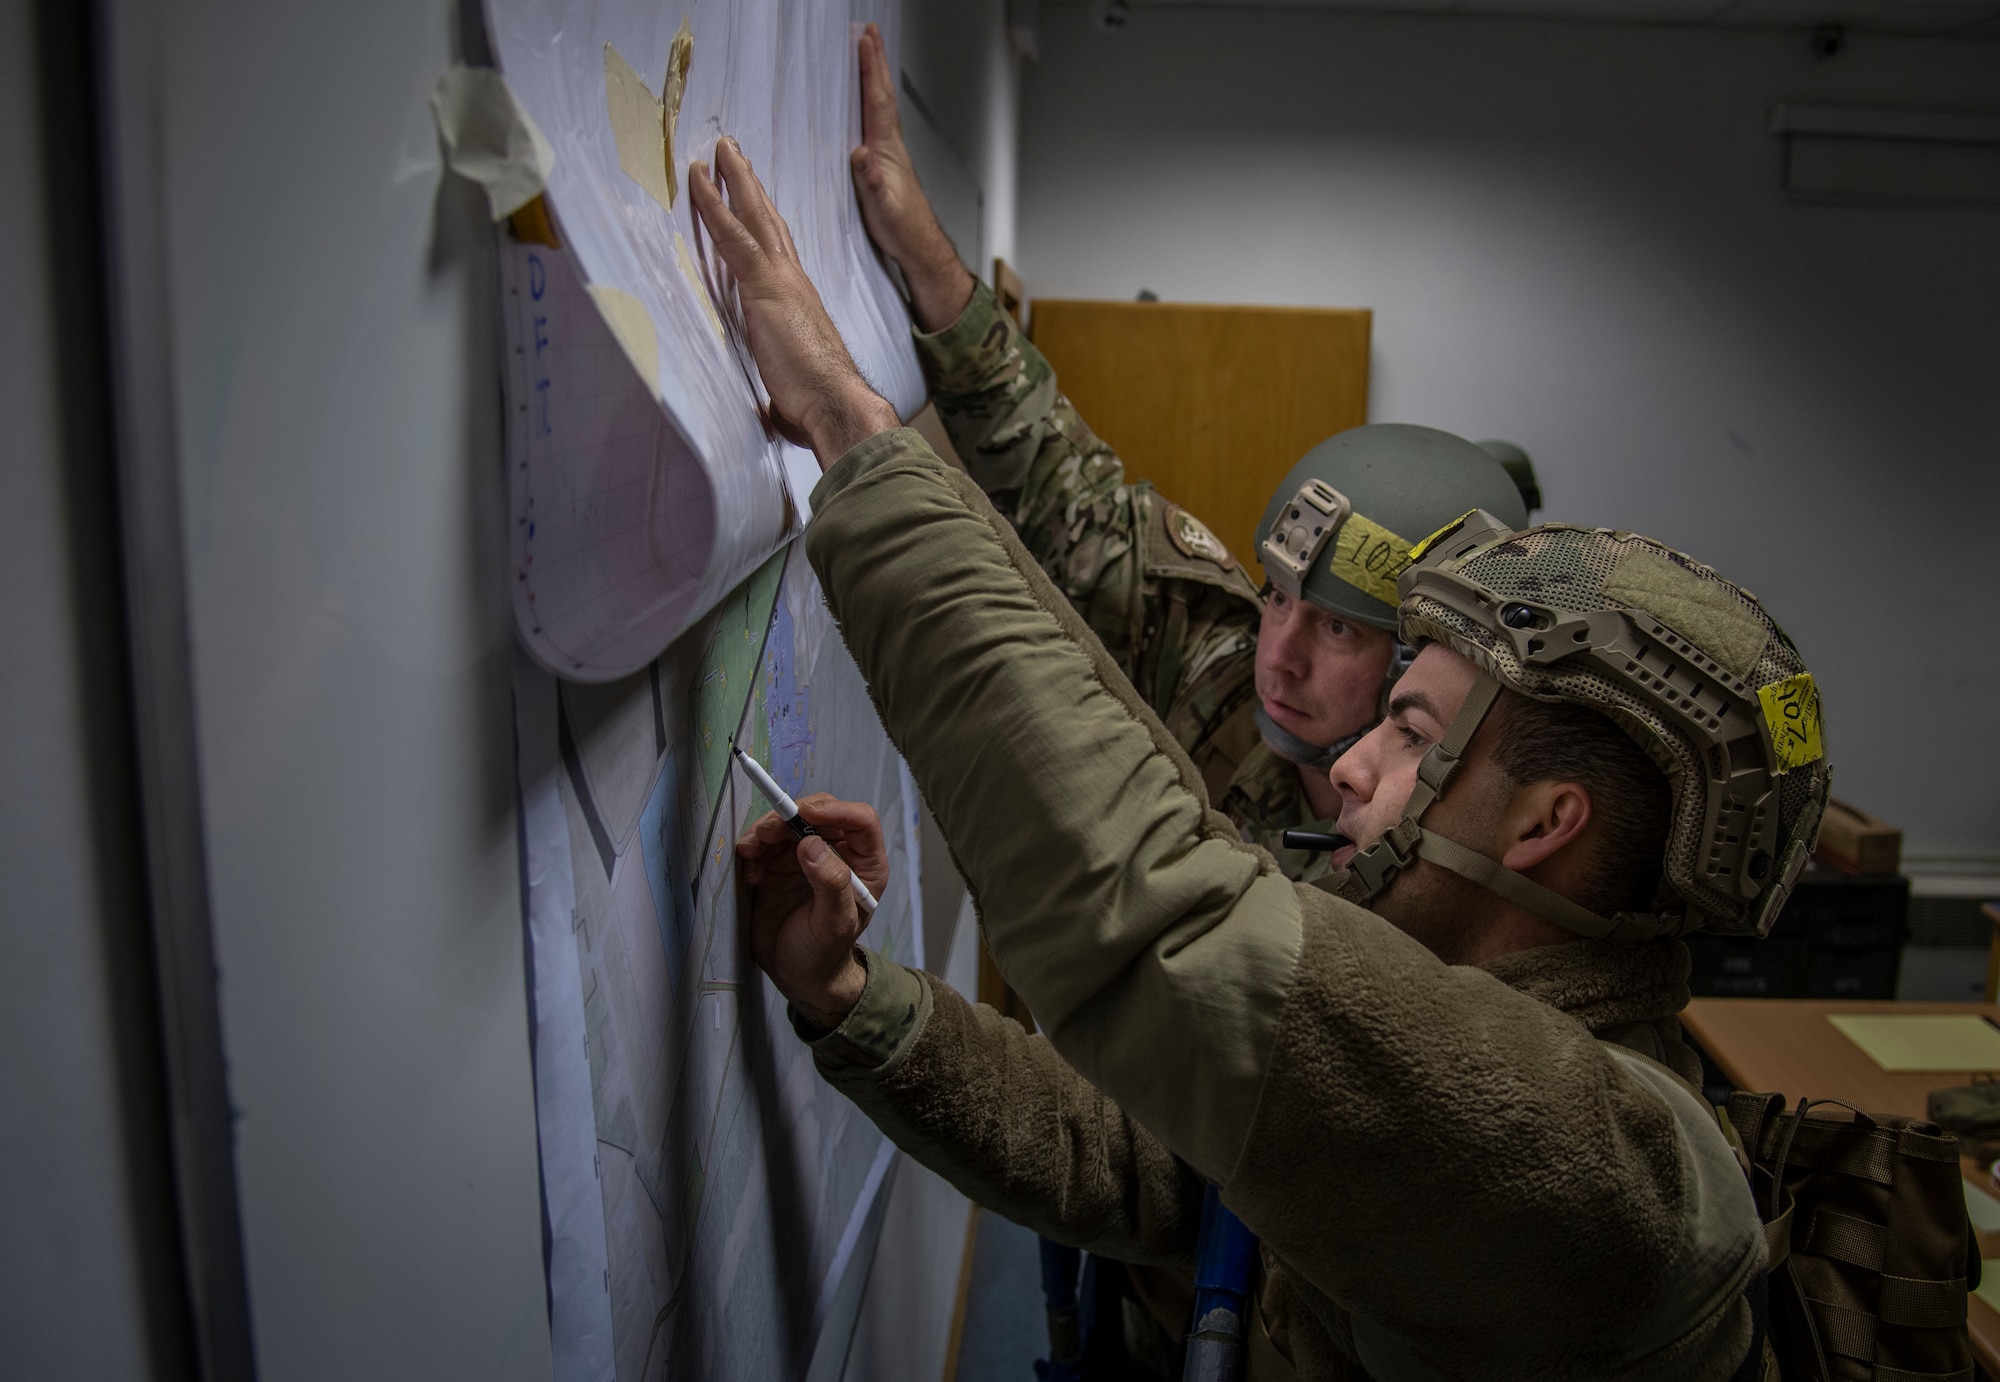
[[[446,0],[170,0],[178,444],[258,1372],[546,1382],[492,232]]]

